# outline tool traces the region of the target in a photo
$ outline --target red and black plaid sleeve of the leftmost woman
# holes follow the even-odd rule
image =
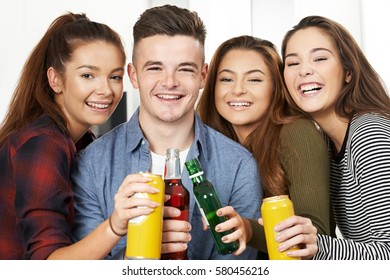
[[[71,244],[69,183],[73,152],[63,135],[40,133],[14,151],[15,211],[23,228],[24,257],[46,259]]]

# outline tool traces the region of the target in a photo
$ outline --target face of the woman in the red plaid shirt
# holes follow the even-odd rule
[[[123,95],[123,75],[123,57],[114,45],[99,41],[74,50],[56,94],[72,136],[110,117]]]

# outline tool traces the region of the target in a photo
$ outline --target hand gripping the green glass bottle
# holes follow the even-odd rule
[[[250,228],[249,222],[242,218],[232,206],[226,206],[221,209],[218,209],[217,216],[222,217],[226,216],[228,220],[226,222],[220,223],[216,226],[215,230],[217,232],[224,232],[232,229],[231,234],[225,235],[222,238],[224,243],[230,243],[238,240],[240,246],[232,254],[237,256],[240,255],[246,249],[246,243],[252,235],[252,230]]]

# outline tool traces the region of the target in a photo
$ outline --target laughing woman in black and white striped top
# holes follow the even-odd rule
[[[317,259],[390,259],[390,98],[349,32],[302,19],[283,44],[291,106],[326,134],[331,202],[344,238],[319,234]]]

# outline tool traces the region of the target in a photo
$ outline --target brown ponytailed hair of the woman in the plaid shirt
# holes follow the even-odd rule
[[[55,101],[49,85],[47,69],[53,67],[65,80],[65,64],[74,50],[83,44],[104,41],[126,54],[120,36],[102,23],[90,21],[85,14],[67,13],[55,19],[26,60],[13,93],[6,117],[0,126],[0,145],[13,132],[43,114],[49,115],[64,133],[67,121]]]

